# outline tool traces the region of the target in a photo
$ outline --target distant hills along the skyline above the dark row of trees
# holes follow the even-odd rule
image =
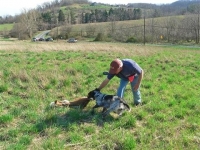
[[[55,14],[58,11],[73,10],[74,13],[80,14],[83,10],[89,12],[91,10],[109,10],[109,8],[139,8],[142,9],[142,14],[146,13],[146,17],[162,17],[173,15],[184,15],[186,12],[194,12],[194,6],[200,5],[199,0],[179,0],[171,4],[151,4],[151,3],[129,3],[127,5],[109,5],[103,3],[90,2],[89,0],[53,0],[52,2],[45,2],[35,8],[39,13],[51,12]],[[195,8],[196,9],[196,8]],[[200,8],[199,8],[200,9]],[[56,14],[55,14],[56,15]],[[13,23],[18,21],[18,16],[0,16],[0,24]],[[78,16],[78,15],[76,15]]]

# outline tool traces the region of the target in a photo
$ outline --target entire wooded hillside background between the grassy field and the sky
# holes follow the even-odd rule
[[[70,2],[71,3],[68,1],[62,1],[62,3],[45,3],[41,5],[41,7],[38,7],[37,11],[31,10],[24,12],[19,16],[20,19],[18,19],[18,22],[15,23],[14,28],[10,32],[1,32],[1,34],[4,34],[4,37],[10,36],[17,37],[18,39],[30,39],[38,30],[52,30],[51,36],[54,39],[67,39],[71,36],[95,38],[98,34],[103,33],[105,36],[109,37],[109,39],[106,38],[106,41],[114,40],[125,42],[129,40],[129,38],[132,38],[134,41],[142,42],[142,40],[144,40],[144,37],[142,37],[142,30],[144,30],[142,26],[144,26],[144,23],[136,27],[135,23],[127,25],[127,22],[133,20],[140,20],[140,22],[142,22],[141,20],[145,18],[147,20],[145,24],[147,27],[146,33],[149,33],[147,38],[145,38],[147,42],[150,41],[149,39],[151,39],[153,43],[155,41],[160,42],[161,40],[159,37],[161,36],[164,37],[162,41],[165,42],[199,42],[198,30],[195,29],[199,29],[198,24],[195,23],[195,20],[198,20],[196,14],[198,14],[199,10],[197,1],[177,1],[168,5],[141,3],[106,5],[78,0]],[[184,17],[182,20],[178,21],[173,19],[176,18],[176,16]],[[159,18],[162,17],[167,17],[167,19],[159,21]],[[98,23],[100,25],[107,23],[109,26],[106,28],[96,28]],[[94,27],[93,24],[95,24],[96,27]],[[74,30],[78,25],[84,28]],[[133,29],[135,27],[138,28],[138,31]],[[54,28],[56,28],[56,30],[59,29],[59,31],[55,31]],[[126,29],[126,31],[121,33],[120,28]],[[128,28],[130,28],[131,32],[128,31]],[[188,31],[183,31],[183,29]],[[189,34],[187,32],[189,32]],[[178,33],[182,34],[178,35]],[[121,35],[121,37],[117,35]],[[135,37],[138,35],[140,35],[140,37]]]

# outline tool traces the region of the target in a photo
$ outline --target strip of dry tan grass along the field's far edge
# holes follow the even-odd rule
[[[0,41],[0,50],[5,51],[93,51],[106,54],[120,53],[122,56],[127,55],[152,55],[161,50],[160,47],[144,46],[139,44],[127,43],[95,43],[95,42],[78,42],[66,43],[66,41],[54,42],[29,42],[29,41]]]

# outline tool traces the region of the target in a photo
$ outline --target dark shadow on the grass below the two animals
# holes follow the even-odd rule
[[[95,112],[95,114],[92,115],[91,110],[83,110],[80,108],[67,108],[66,113],[64,114],[57,113],[56,109],[54,109],[54,111],[46,109],[46,113],[47,115],[45,116],[45,119],[41,119],[36,123],[36,132],[43,133],[45,129],[51,127],[68,129],[72,124],[81,125],[84,123],[96,124],[99,127],[103,127],[104,123],[115,120],[111,115],[108,115],[105,119],[102,119],[100,112]]]

